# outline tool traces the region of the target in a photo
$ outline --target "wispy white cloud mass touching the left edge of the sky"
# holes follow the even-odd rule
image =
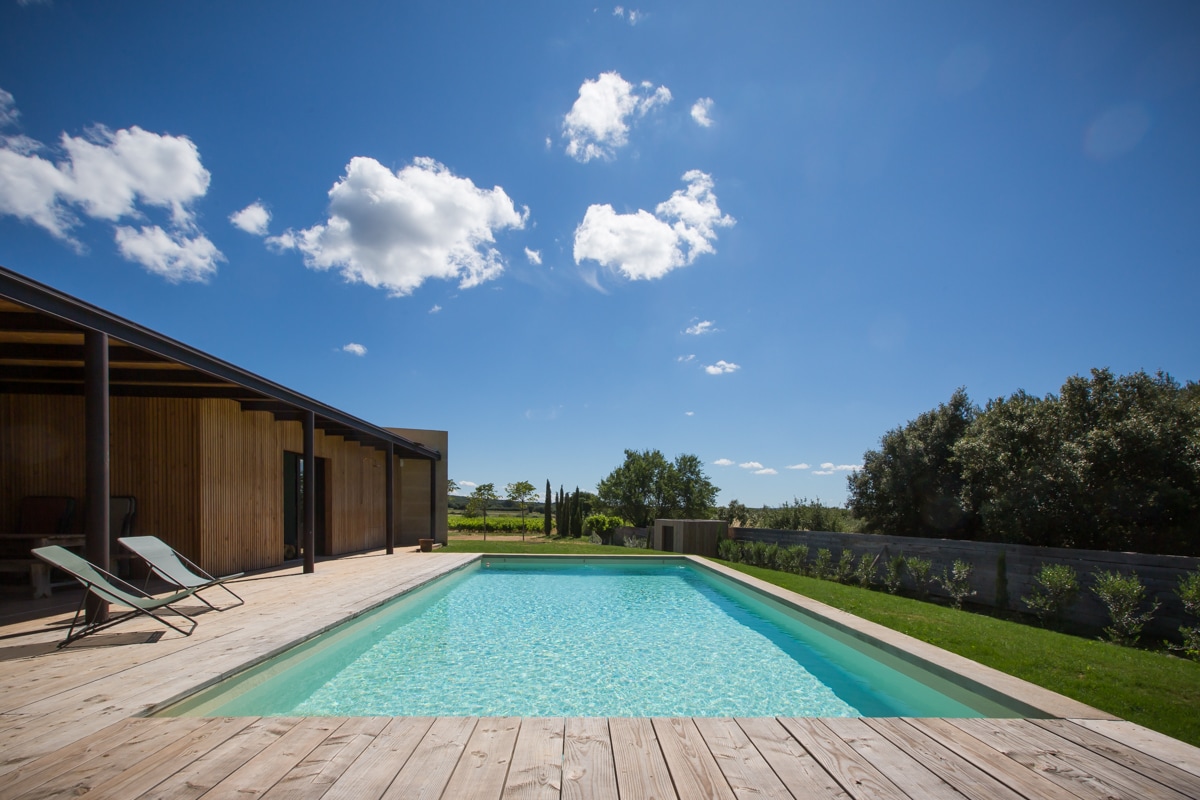
[[[0,89],[0,128],[19,116],[12,95]],[[0,134],[0,213],[31,222],[77,252],[83,251],[71,234],[77,213],[112,222],[120,253],[169,281],[206,281],[223,260],[191,209],[208,193],[209,180],[199,150],[182,136],[95,125],[83,137],[61,134],[52,149],[23,134]],[[150,209],[168,212],[170,231],[115,224],[145,221]]]

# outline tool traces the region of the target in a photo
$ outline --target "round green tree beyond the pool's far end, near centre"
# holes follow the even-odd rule
[[[647,528],[659,518],[707,519],[718,488],[696,456],[668,462],[658,450],[626,450],[625,462],[600,481],[596,493],[634,527]]]

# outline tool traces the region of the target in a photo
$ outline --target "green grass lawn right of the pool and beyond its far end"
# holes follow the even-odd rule
[[[451,536],[446,549],[581,555],[648,552],[590,545],[587,540],[522,543],[520,537],[491,535],[486,542]],[[832,581],[721,564],[1200,746],[1200,663],[1195,661]]]

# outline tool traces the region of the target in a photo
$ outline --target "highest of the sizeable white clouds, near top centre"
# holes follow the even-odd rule
[[[612,158],[618,148],[629,143],[631,116],[646,116],[670,102],[671,90],[666,86],[655,89],[649,82],[634,86],[616,72],[584,80],[578,98],[563,118],[566,155],[583,163]]]

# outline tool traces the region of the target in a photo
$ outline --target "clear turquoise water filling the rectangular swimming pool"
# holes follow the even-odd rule
[[[168,710],[1034,716],[672,559],[490,558]]]

